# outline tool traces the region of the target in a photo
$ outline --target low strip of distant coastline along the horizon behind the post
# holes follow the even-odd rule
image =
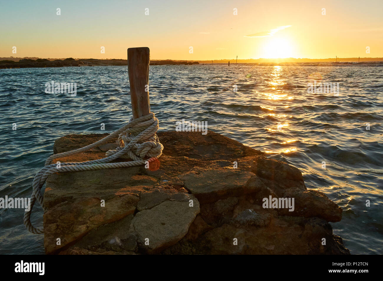
[[[289,63],[289,62],[371,62],[383,61],[383,58],[328,58],[328,59],[305,59],[305,58],[283,58],[283,59],[238,59],[237,63]],[[220,59],[210,61],[186,61],[186,60],[151,60],[151,66],[158,65],[193,65],[193,64],[231,64],[236,59]],[[0,58],[0,69],[3,68],[26,68],[26,67],[68,67],[68,66],[127,66],[126,59],[41,59],[41,58]]]

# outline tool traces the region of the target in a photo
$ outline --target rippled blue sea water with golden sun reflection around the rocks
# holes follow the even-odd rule
[[[175,130],[183,118],[207,121],[209,130],[296,166],[309,189],[343,208],[331,225],[350,252],[382,254],[382,70],[379,63],[151,66],[151,110],[160,130]],[[339,82],[339,96],[309,94],[313,79]],[[46,94],[51,80],[76,82],[77,95]],[[104,133],[101,123],[111,132],[131,117],[126,66],[1,69],[0,96],[0,197],[30,197],[57,138]],[[32,223],[41,226],[42,215],[36,205]],[[0,209],[0,253],[44,253],[43,235],[27,232],[23,210]]]

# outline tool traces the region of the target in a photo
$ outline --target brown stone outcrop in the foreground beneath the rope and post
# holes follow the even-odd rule
[[[105,135],[64,136],[55,142],[54,153]],[[164,152],[149,169],[48,177],[46,253],[349,253],[328,223],[339,221],[342,209],[321,192],[306,189],[298,169],[212,131],[167,131],[158,136]],[[54,162],[102,158],[116,145]],[[265,204],[264,198],[279,203]]]

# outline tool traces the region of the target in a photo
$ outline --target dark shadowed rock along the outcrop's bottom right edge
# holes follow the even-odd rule
[[[326,245],[321,239],[326,238]],[[237,244],[234,241],[236,239]],[[325,220],[278,217],[266,227],[236,227],[224,223],[192,242],[182,239],[163,254],[292,255],[347,254],[339,237],[334,239]]]

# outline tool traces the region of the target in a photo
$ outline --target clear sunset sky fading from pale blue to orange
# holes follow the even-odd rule
[[[146,46],[151,59],[377,58],[382,11],[382,0],[0,0],[0,57],[126,59]]]

